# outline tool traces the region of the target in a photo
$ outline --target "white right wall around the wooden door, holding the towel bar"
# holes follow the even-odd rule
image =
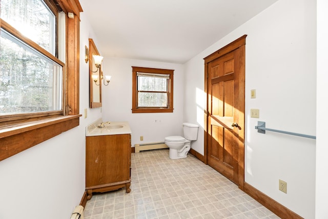
[[[202,58],[243,34],[246,38],[245,182],[304,218],[315,212],[316,141],[280,133],[257,133],[257,121],[268,128],[316,135],[316,4],[280,0],[207,48],[186,64],[185,120],[201,121],[195,99],[203,90]],[[197,78],[197,81],[194,81]],[[256,99],[250,90],[256,89]],[[250,109],[260,118],[250,118]],[[203,137],[202,137],[203,138]],[[203,144],[193,148],[203,154]],[[278,180],[288,193],[278,190]],[[306,188],[306,189],[305,189]]]

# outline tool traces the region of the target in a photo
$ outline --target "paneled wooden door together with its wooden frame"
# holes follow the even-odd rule
[[[207,163],[243,187],[244,44],[235,48],[233,42],[232,48],[229,46],[205,58],[208,94],[205,147]]]

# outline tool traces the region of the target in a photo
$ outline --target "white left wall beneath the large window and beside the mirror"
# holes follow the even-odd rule
[[[85,126],[101,117],[89,109],[89,66],[84,46],[93,37],[87,18],[80,23],[80,125],[0,162],[0,218],[70,218],[85,191]],[[22,140],[23,141],[23,140]]]

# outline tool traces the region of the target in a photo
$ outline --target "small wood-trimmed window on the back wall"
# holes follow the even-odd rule
[[[132,113],[173,112],[173,71],[132,67]]]

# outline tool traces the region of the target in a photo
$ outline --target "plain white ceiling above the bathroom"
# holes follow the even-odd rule
[[[101,55],[184,64],[276,1],[80,0],[80,4]]]

